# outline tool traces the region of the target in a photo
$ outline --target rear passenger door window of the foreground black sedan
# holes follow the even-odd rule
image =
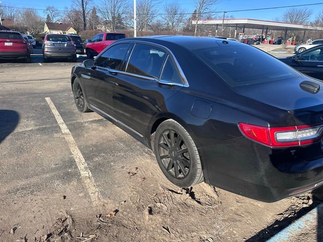
[[[165,50],[146,44],[135,44],[126,72],[159,78],[167,53]]]

